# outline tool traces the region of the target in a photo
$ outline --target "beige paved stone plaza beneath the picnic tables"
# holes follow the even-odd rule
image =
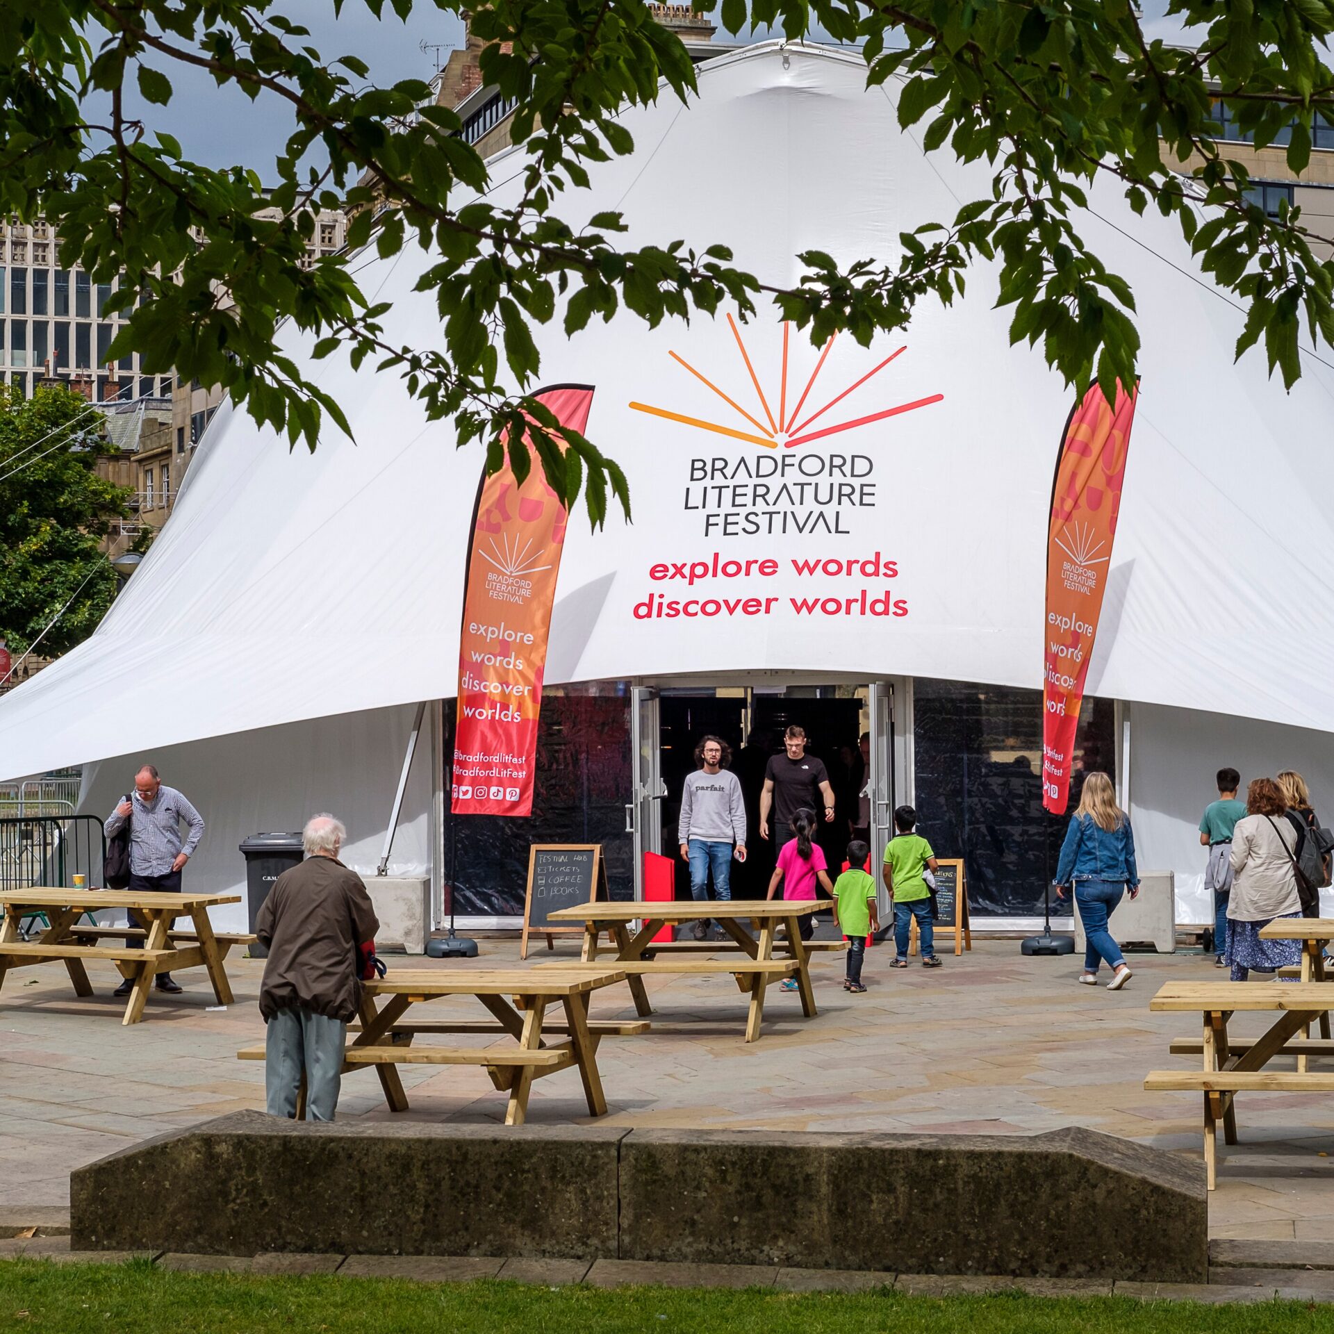
[[[576,956],[538,944],[528,963]],[[796,995],[768,992],[764,1037],[742,1042],[746,1005],[730,976],[646,979],[654,1031],[608,1038],[599,1066],[610,1123],[743,1130],[1026,1134],[1081,1125],[1195,1161],[1198,1094],[1147,1094],[1145,1074],[1187,1063],[1174,1037],[1198,1035],[1191,1014],[1150,1014],[1167,979],[1214,980],[1213,958],[1130,955],[1121,992],[1075,983],[1078,963],[1026,959],[1017,940],[976,942],[927,972],[892,971],[884,946],[867,955],[867,992],[846,994],[842,960],[816,956],[820,1014],[803,1021]],[[518,943],[483,940],[476,960],[390,956],[412,967],[495,967]],[[0,1206],[64,1205],[71,1167],[199,1121],[264,1105],[264,1069],[236,1051],[263,1039],[256,1006],[263,960],[229,959],[236,1005],[211,1009],[201,970],[181,974],[183,996],[149,1002],[125,1029],[111,999],[119,975],[89,966],[97,995],[80,1000],[64,970],[12,972],[0,991]],[[623,1007],[618,1009],[619,1005]],[[440,1017],[486,1018],[474,1000],[432,1002]],[[604,991],[594,1015],[630,1018],[628,992]],[[419,1018],[428,1018],[426,1011]],[[1267,1015],[1241,1015],[1234,1037]],[[400,1066],[406,1115],[499,1122],[504,1095],[474,1067]],[[370,1070],[344,1078],[340,1115],[388,1118]],[[587,1122],[575,1071],[540,1081],[530,1123]],[[1258,1241],[1334,1241],[1334,1107],[1318,1095],[1243,1094],[1242,1142],[1219,1146],[1211,1234]]]

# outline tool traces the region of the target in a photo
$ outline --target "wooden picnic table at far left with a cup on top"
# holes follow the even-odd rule
[[[215,903],[240,903],[239,894],[136,894],[132,890],[61,890],[33,887],[0,892],[4,922],[0,923],[0,986],[12,968],[37,963],[63,963],[75,994],[92,995],[84,964],[89,959],[115,963],[120,975],[133,979],[121,1023],[139,1023],[153,978],[159,972],[207,968],[219,1005],[232,1005],[232,988],[223,959],[233,944],[248,944],[252,935],[213,931],[208,910]],[[140,926],[79,926],[85,912],[123,908]],[[47,928],[36,940],[19,938],[23,918],[41,914]],[[189,918],[192,930],[176,931],[176,918]],[[100,942],[111,940],[109,944]],[[132,948],[136,940],[141,948]]]

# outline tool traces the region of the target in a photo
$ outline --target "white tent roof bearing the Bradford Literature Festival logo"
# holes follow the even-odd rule
[[[854,53],[767,44],[711,61],[699,79],[688,109],[664,97],[627,112],[635,155],[595,171],[592,189],[566,208],[624,209],[634,244],[726,241],[739,264],[783,283],[811,247],[892,260],[900,229],[948,221],[988,188],[984,168],[948,151],[924,156],[896,127],[894,85],[867,91]],[[519,171],[516,157],[498,161],[498,197],[518,188]],[[1241,316],[1197,276],[1174,225],[1137,219],[1111,191],[1095,192],[1093,207],[1082,225],[1131,283],[1145,351],[1090,692],[1334,730],[1334,622],[1323,612],[1334,599],[1334,374],[1307,359],[1285,394],[1261,355],[1234,366]],[[412,292],[426,263],[407,252],[362,275],[375,299],[394,303],[391,336],[420,346],[439,338],[432,300]],[[630,406],[754,431],[676,352],[763,423],[724,319],[650,331],[622,316],[568,343],[546,329],[543,383],[596,387],[588,434],[624,466],[635,506],[632,526],[612,516],[598,535],[582,512],[571,519],[548,682],[811,668],[1039,686],[1046,515],[1071,396],[1041,355],[1009,346],[994,295],[992,276],[978,271],[966,299],[923,303],[904,336],[870,348],[838,339],[803,415],[906,351],[811,431],[942,398],[792,450]],[[743,339],[776,416],[780,325],[766,309]],[[786,404],[815,362],[794,334]],[[223,408],[171,522],[103,626],[0,702],[4,774],[455,692],[480,451],[456,450],[448,424],[427,423],[392,372],[354,372],[335,358],[315,374],[359,443],[331,428],[313,455],[292,454]],[[834,462],[852,456],[864,462]],[[770,482],[767,500],[700,496],[691,480],[739,470],[727,486],[754,486],[746,472],[756,460],[822,482],[831,468],[868,470],[858,484],[874,494],[830,506],[810,491],[775,499]],[[747,535],[747,522],[770,520],[738,518],[736,535],[711,532],[696,502],[791,510],[807,531]],[[691,562],[711,570],[715,552],[751,560],[750,575],[690,586],[650,574]],[[895,576],[791,566],[876,552]],[[776,574],[760,571],[766,559]],[[863,588],[870,600],[888,590],[906,614],[863,614]],[[659,592],[716,598],[718,614],[636,618]],[[808,596],[830,602],[794,610],[790,599]],[[747,614],[747,598],[760,614]]]

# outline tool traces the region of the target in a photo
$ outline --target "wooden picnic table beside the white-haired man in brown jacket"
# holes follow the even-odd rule
[[[564,964],[556,968],[395,968],[383,978],[362,983],[360,1023],[350,1027],[343,1073],[372,1067],[380,1077],[390,1111],[407,1111],[408,1099],[395,1066],[482,1066],[496,1089],[508,1091],[504,1123],[522,1126],[528,1113],[528,1094],[535,1079],[578,1067],[588,1113],[603,1117],[607,1099],[598,1073],[598,1043],[604,1037],[644,1033],[643,1021],[588,1018],[588,1002],[600,987],[624,982],[626,974],[604,964]],[[475,996],[490,1021],[406,1021],[414,1005],[443,996]],[[380,1002],[378,1005],[376,1002]],[[559,1003],[564,1022],[547,1023],[547,1009]],[[443,1047],[418,1046],[423,1034],[508,1035],[515,1046]],[[556,1042],[547,1042],[558,1037]],[[264,1047],[239,1051],[241,1061],[263,1061]],[[305,1115],[304,1081],[296,1117]]]

